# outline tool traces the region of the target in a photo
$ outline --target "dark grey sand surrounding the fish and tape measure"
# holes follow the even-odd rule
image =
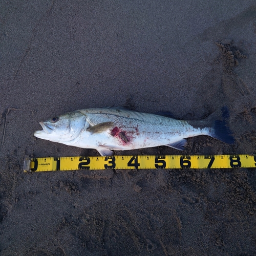
[[[256,254],[255,168],[23,172],[24,155],[97,156],[33,133],[110,105],[188,120],[227,105],[234,145],[183,153],[255,154],[255,1],[207,2],[1,2],[1,255]]]

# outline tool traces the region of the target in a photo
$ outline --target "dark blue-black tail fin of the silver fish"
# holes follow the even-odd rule
[[[214,121],[214,125],[210,129],[209,135],[227,144],[233,144],[234,138],[226,122],[226,120],[229,118],[228,108],[226,106],[223,106],[221,109],[221,112],[222,112],[222,120]]]

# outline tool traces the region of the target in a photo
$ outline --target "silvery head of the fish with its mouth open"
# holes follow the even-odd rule
[[[86,115],[75,111],[39,123],[42,130],[36,131],[35,137],[61,143],[75,139],[87,122]]]

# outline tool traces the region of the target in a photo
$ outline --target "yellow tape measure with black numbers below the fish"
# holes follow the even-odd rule
[[[182,169],[256,167],[256,155],[163,155],[106,157],[24,157],[24,171],[102,169]]]

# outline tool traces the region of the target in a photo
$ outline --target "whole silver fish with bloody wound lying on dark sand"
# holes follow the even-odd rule
[[[204,120],[178,120],[166,112],[150,114],[122,107],[84,109],[69,112],[39,122],[42,130],[34,136],[80,148],[93,148],[101,156],[113,151],[169,146],[184,150],[186,138],[208,135],[233,144],[234,138],[226,126],[227,109],[222,110],[223,120],[213,120],[211,114]],[[211,123],[209,125],[209,123]]]

